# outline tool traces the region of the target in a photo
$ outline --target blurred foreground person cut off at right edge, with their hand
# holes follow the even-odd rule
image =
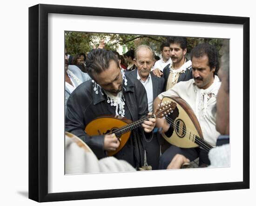
[[[216,147],[209,151],[210,167],[230,166],[229,147],[229,53],[228,46],[224,45],[221,66],[218,71],[221,86],[216,97],[216,130],[221,133],[216,142]],[[176,154],[167,169],[179,169],[183,164],[189,163],[189,159],[182,154]]]

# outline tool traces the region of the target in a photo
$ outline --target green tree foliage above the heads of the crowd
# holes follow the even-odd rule
[[[100,40],[105,40],[105,49],[117,50],[120,46],[125,48],[122,53],[125,53],[130,48],[136,48],[141,44],[146,44],[152,47],[155,53],[160,53],[160,46],[168,40],[166,36],[155,35],[137,35],[137,34],[117,34],[117,33],[87,33],[87,32],[66,32],[65,43],[67,53],[71,55],[80,52],[87,53],[94,47],[98,47]],[[219,56],[222,55],[223,39],[213,38],[195,38],[189,37],[187,52],[199,43],[207,42],[215,45],[219,51]]]

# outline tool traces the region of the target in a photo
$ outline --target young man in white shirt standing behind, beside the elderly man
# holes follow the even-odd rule
[[[163,68],[168,64],[172,63],[170,58],[170,44],[168,42],[162,43],[160,46],[162,59],[155,62],[153,69],[159,69],[163,71]]]

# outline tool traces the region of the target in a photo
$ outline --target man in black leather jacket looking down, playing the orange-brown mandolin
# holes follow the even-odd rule
[[[121,71],[112,51],[94,49],[88,53],[86,72],[92,78],[76,88],[67,101],[66,131],[83,140],[98,159],[115,151],[119,140],[115,134],[89,136],[86,125],[97,117],[114,114],[136,121],[148,115],[148,100],[145,88],[136,79]],[[145,120],[139,129],[132,131],[125,146],[114,156],[139,168],[144,162],[141,138],[151,136],[155,119]],[[139,132],[141,135],[139,135]]]

